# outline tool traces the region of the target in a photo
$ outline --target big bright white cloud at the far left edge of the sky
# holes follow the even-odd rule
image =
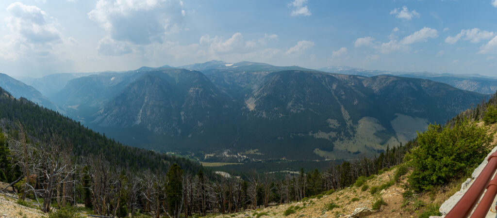
[[[5,32],[0,38],[0,65],[13,74],[40,75],[60,72],[73,64],[68,46],[78,43],[65,38],[63,27],[41,8],[14,2],[6,8]]]

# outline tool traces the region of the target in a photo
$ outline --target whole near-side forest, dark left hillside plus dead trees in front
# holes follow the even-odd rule
[[[40,210],[84,204],[102,216],[234,213],[300,201],[401,163],[414,142],[378,157],[275,179],[253,170],[221,176],[191,160],[119,144],[0,89],[0,180]],[[6,189],[2,190],[5,192]]]

